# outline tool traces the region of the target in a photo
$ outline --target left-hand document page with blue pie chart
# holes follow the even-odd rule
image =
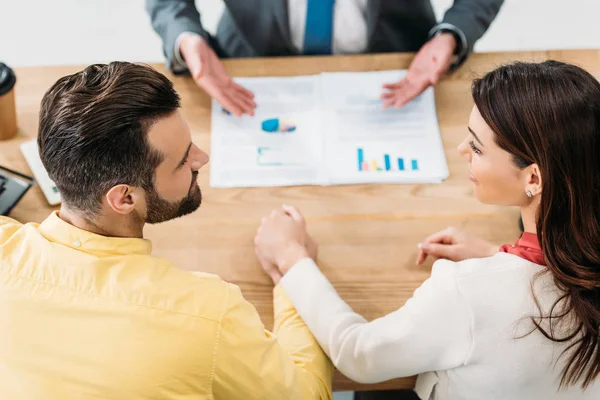
[[[318,75],[235,81],[258,106],[253,117],[237,118],[213,100],[211,186],[324,183]]]

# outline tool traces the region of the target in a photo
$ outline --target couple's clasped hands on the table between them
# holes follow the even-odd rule
[[[306,232],[304,217],[295,207],[284,205],[263,218],[254,244],[261,266],[274,283],[303,258],[317,258],[317,244]]]

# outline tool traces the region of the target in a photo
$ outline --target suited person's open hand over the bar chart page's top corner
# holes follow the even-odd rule
[[[429,87],[435,85],[448,71],[454,57],[456,39],[442,33],[425,43],[408,68],[406,77],[398,83],[383,85],[383,107],[402,107]]]

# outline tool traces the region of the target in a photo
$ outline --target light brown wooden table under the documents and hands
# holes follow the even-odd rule
[[[325,71],[374,71],[407,68],[412,55],[245,59],[226,61],[234,76],[289,76]],[[436,87],[436,106],[450,177],[435,185],[354,185],[211,189],[209,167],[200,171],[204,193],[200,211],[158,226],[146,236],[154,254],[188,270],[219,274],[238,284],[258,309],[265,325],[273,325],[272,283],[254,257],[253,237],[262,216],[281,204],[298,206],[310,233],[320,244],[319,265],[340,295],[367,319],[385,315],[411,296],[430,274],[415,266],[417,243],[446,226],[458,226],[489,240],[512,242],[518,235],[515,209],[480,204],[472,195],[464,160],[456,147],[467,134],[472,107],[470,82],[512,60],[548,58],[576,63],[600,76],[600,50],[474,54]],[[155,66],[164,71],[162,65]],[[18,145],[36,137],[40,100],[59,77],[82,67],[17,69],[20,134],[0,142],[0,165],[29,173]],[[210,99],[187,77],[170,76],[182,97],[183,114],[194,142],[208,151]],[[52,210],[39,187],[32,188],[11,216],[41,222]],[[359,385],[337,374],[336,390],[412,388],[414,378],[378,385]]]

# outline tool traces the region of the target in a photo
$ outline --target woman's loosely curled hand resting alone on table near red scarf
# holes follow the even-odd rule
[[[444,258],[451,261],[490,257],[499,248],[498,245],[467,235],[456,228],[446,228],[419,243],[417,265],[423,264],[427,256],[432,256],[434,260]]]

